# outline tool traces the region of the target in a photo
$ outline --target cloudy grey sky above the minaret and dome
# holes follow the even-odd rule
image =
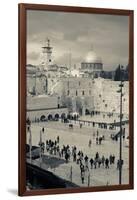
[[[128,16],[27,11],[27,64],[39,65],[46,38],[58,65],[77,67],[92,49],[101,57],[104,70],[127,65],[129,57]]]

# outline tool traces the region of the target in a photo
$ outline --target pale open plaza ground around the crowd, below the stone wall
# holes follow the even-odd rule
[[[119,170],[117,169],[117,160],[119,159],[119,140],[114,141],[111,139],[111,134],[116,134],[119,128],[115,130],[102,129],[97,126],[93,127],[88,124],[83,124],[80,128],[79,123],[73,122],[73,129],[69,128],[68,123],[61,121],[47,121],[41,123],[31,124],[32,133],[32,145],[38,146],[40,141],[40,130],[44,127],[44,133],[42,133],[42,141],[46,143],[46,140],[55,141],[59,136],[59,146],[69,145],[70,149],[75,145],[77,152],[80,150],[87,155],[88,158],[94,158],[96,152],[100,157],[104,155],[105,158],[109,158],[110,155],[115,155],[115,163],[110,165],[108,169],[104,166],[93,167],[91,169],[89,163],[89,170],[85,171],[84,183],[81,182],[80,167],[79,164],[73,162],[72,156],[68,163],[59,162],[60,164],[54,167],[50,165],[51,159],[56,162],[59,158],[58,155],[50,155],[46,150],[44,151],[42,161],[40,159],[33,160],[33,164],[40,165],[42,168],[53,172],[55,175],[72,181],[78,186],[102,186],[102,185],[117,185],[119,183]],[[126,137],[128,136],[128,125],[125,126]],[[98,131],[99,136],[104,135],[105,140],[101,145],[96,144],[96,133]],[[92,141],[91,147],[89,147],[89,140]],[[29,143],[29,133],[27,133],[27,144]],[[44,159],[45,156],[45,159]],[[48,157],[48,159],[47,159]],[[127,147],[127,140],[122,141],[122,159],[124,160],[122,168],[122,184],[128,184],[129,182],[129,148]],[[57,161],[58,162],[58,161]]]

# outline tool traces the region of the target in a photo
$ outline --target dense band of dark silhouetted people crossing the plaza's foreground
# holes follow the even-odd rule
[[[98,134],[98,133],[97,133]],[[69,161],[75,162],[79,165],[80,168],[80,176],[82,184],[84,184],[85,180],[85,173],[89,172],[92,169],[109,169],[112,165],[115,164],[115,155],[110,154],[108,157],[105,155],[100,155],[99,152],[96,152],[93,157],[88,157],[87,154],[84,154],[83,151],[78,150],[76,145],[63,145],[60,146],[60,137],[57,136],[56,140],[46,140],[46,143],[42,142],[41,144],[42,152],[46,150],[50,155],[58,156],[59,158],[65,159],[65,162],[68,163]],[[92,140],[89,140],[88,146],[91,147]],[[117,169],[119,168],[119,161],[117,161]]]

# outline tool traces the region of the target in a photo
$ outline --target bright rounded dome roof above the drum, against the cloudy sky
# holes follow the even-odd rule
[[[101,63],[101,58],[92,50],[89,51],[85,57],[85,62],[87,63]]]

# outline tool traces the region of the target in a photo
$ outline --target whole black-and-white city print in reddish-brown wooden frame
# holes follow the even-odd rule
[[[133,11],[19,4],[19,195],[133,189]]]

